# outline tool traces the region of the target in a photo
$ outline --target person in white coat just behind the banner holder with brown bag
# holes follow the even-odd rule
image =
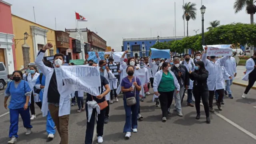
[[[100,75],[106,78],[108,83],[110,83],[110,80],[115,78],[114,74],[111,72],[111,70],[108,68],[106,60],[100,60],[99,61],[99,66],[100,66]],[[103,90],[105,90],[103,88]],[[109,117],[109,103],[110,103],[110,92],[108,92],[105,96],[106,101],[108,102],[108,106],[105,108],[105,118],[104,118],[104,123],[108,123],[108,117]]]

